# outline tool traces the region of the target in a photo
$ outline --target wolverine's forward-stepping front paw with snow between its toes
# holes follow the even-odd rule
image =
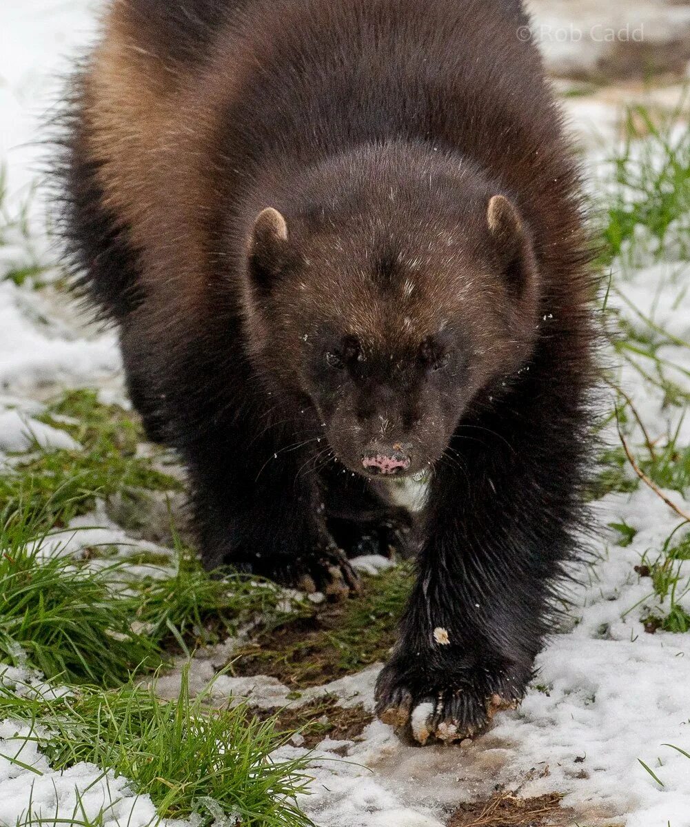
[[[462,660],[424,667],[419,657],[397,656],[376,682],[376,715],[406,739],[452,743],[474,737],[524,694],[525,681],[502,668]]]

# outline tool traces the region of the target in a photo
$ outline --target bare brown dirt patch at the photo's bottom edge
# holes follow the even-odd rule
[[[558,793],[520,798],[502,790],[489,801],[461,805],[448,827],[572,827],[575,814],[563,810],[562,798]]]

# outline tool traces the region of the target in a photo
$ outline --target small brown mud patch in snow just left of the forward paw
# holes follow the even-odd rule
[[[307,749],[318,746],[324,738],[333,741],[357,739],[374,719],[371,712],[367,712],[363,706],[345,709],[338,705],[338,699],[333,696],[313,700],[304,706],[262,710],[258,713],[262,720],[274,715],[276,729],[279,732],[296,733],[299,746]]]

